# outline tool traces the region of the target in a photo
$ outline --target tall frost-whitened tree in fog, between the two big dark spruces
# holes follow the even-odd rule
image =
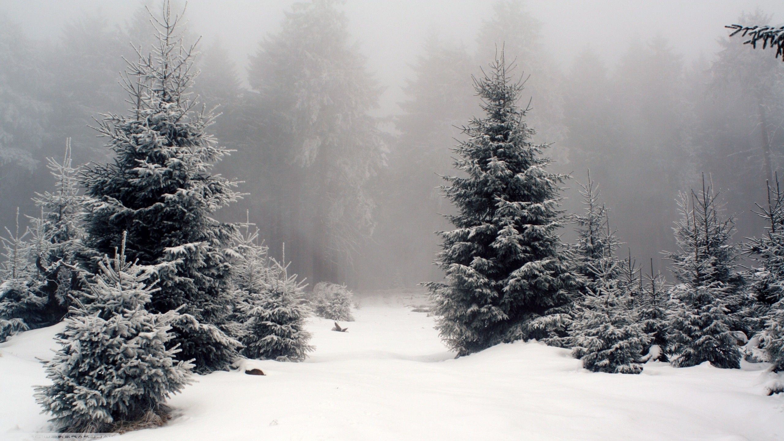
[[[335,0],[293,5],[251,58],[255,107],[269,111],[261,162],[281,188],[270,195],[270,224],[279,224],[297,272],[314,281],[346,280],[375,228],[368,187],[387,148],[370,115],[380,89],[365,63]]]

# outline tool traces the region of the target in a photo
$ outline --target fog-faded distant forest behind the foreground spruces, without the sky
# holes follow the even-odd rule
[[[128,42],[150,44],[145,13],[120,29],[84,16],[53,44],[2,19],[0,224],[13,225],[17,206],[23,215],[36,212],[30,198],[52,184],[45,158],[60,157],[67,137],[77,164],[109,157],[87,126],[127,108],[118,72],[122,56],[132,58]],[[740,24],[770,20],[763,12],[738,17]],[[188,41],[198,31],[190,28]],[[586,47],[561,69],[548,59],[535,17],[519,2],[499,2],[477,31],[477,53],[438,35],[422,42],[400,103],[405,113],[391,119],[372,116],[381,87],[338,4],[287,13],[281,31],[249,54],[247,72],[225,55],[227,42],[200,42],[194,93],[208,107],[220,104],[211,131],[236,150],[217,170],[243,181],[238,191],[250,195],[220,219],[242,221],[250,210],[271,252],[280,257],[285,242],[292,269],[311,286],[386,289],[433,279],[440,274],[430,265],[433,232],[445,227],[437,213],[450,210],[437,173],[452,168],[453,138],[477,114],[471,75],[503,46],[528,78],[524,100],[532,98],[536,139],[554,143],[555,169],[575,178],[566,184],[568,210],[579,208],[575,181],[585,182],[590,169],[622,240],[663,269],[678,191],[699,186],[704,172],[728,190],[737,239],[759,235],[764,225],[751,210],[765,201],[764,180],[781,160],[784,66],[722,34],[720,52],[695,62],[665,35],[631,40],[613,67]]]

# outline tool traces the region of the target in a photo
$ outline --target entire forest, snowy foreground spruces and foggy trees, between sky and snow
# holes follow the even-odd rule
[[[559,71],[499,2],[477,53],[424,42],[405,114],[379,118],[338,2],[286,13],[247,88],[174,9],[85,16],[56,48],[0,24],[0,340],[66,322],[36,394],[58,429],[165,421],[191,372],[302,361],[305,319],[350,320],[349,287],[426,282],[457,356],[535,339],[598,372],[784,369],[764,13],[695,64],[653,38]]]

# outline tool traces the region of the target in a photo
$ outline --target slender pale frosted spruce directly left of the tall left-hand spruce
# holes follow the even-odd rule
[[[59,322],[68,311],[71,293],[79,290],[85,276],[78,267],[76,254],[85,237],[79,217],[82,197],[78,195],[77,172],[71,161],[71,139],[66,141],[63,162],[47,159],[55,178],[54,191],[36,193],[33,198],[41,208],[40,217],[29,217],[32,233],[30,259],[37,272],[31,289],[46,298],[45,324]]]

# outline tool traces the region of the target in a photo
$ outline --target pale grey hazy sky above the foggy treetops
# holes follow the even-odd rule
[[[291,0],[191,0],[191,30],[209,44],[220,37],[244,75],[249,53],[269,32],[275,32]],[[0,11],[22,21],[34,38],[56,37],[74,16],[101,11],[121,24],[141,4],[132,0],[0,0]],[[575,53],[590,46],[612,66],[635,38],[669,38],[687,60],[717,50],[724,24],[742,11],[763,9],[773,22],[784,21],[781,0],[547,0],[524,2],[543,22],[543,40],[553,59],[568,65]],[[348,0],[351,31],[368,56],[368,65],[386,87],[383,113],[396,111],[400,87],[410,76],[420,42],[430,31],[474,49],[489,0]]]

